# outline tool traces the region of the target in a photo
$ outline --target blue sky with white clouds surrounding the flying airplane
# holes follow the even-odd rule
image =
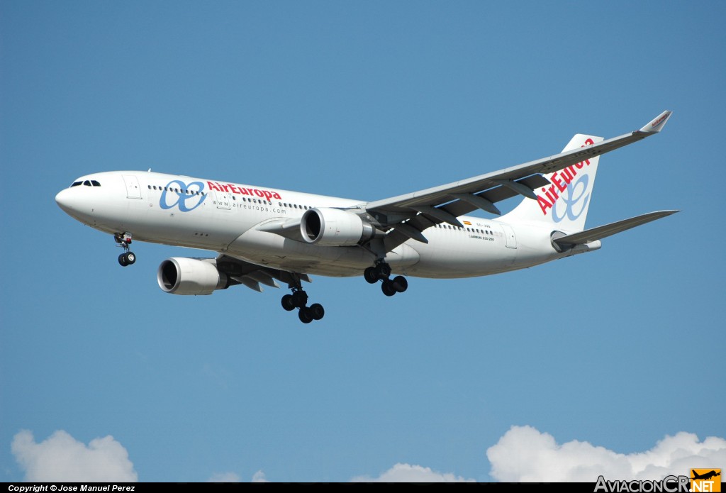
[[[2,2],[0,481],[726,468],[725,20],[717,1]],[[316,277],[309,326],[283,290],[167,295],[158,264],[199,252],[139,244],[122,269],[53,200],[147,168],[377,200],[666,109],[600,160],[588,226],[681,213],[393,298]]]

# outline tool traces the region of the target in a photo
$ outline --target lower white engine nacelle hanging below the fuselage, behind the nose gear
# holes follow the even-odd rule
[[[175,295],[211,295],[229,288],[229,277],[219,272],[214,258],[172,257],[156,273],[159,288]]]

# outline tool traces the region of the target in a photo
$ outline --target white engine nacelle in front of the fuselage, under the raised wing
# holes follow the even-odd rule
[[[375,234],[372,224],[356,214],[333,208],[312,208],[300,221],[300,234],[306,243],[320,246],[351,246]]]

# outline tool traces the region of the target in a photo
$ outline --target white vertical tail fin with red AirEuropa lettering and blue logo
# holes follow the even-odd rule
[[[603,137],[576,134],[563,152],[602,140]],[[600,156],[595,156],[582,163],[544,175],[544,178],[550,181],[550,185],[534,190],[537,200],[524,199],[513,211],[502,216],[502,221],[544,223],[566,232],[582,231],[585,229],[587,209],[590,207],[599,161]]]

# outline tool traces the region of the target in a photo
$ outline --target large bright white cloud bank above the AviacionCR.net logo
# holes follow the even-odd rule
[[[587,441],[558,444],[549,433],[531,426],[513,426],[486,451],[490,475],[512,482],[595,482],[606,479],[662,479],[687,474],[690,468],[726,464],[726,440],[711,436],[698,441],[693,433],[666,436],[645,452],[619,454]]]

